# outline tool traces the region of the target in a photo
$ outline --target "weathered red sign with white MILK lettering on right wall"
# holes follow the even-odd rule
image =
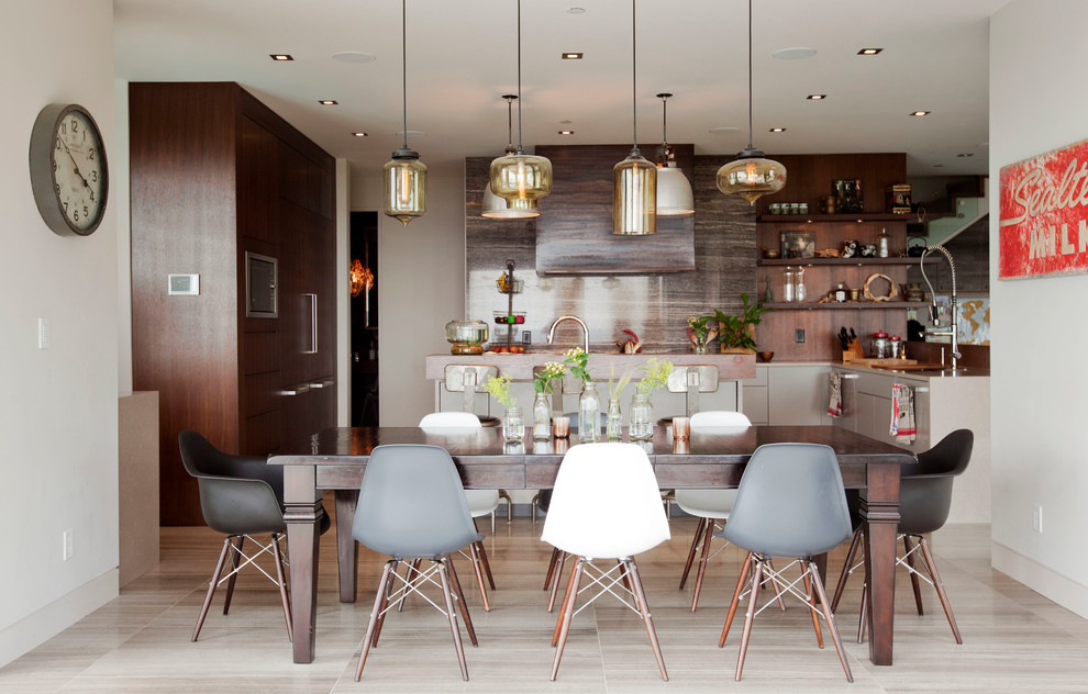
[[[1088,272],[1088,139],[1001,168],[999,279]]]

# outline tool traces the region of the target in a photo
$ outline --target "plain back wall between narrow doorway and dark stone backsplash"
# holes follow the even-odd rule
[[[382,164],[353,175],[352,210],[379,212],[380,423],[415,426],[434,408],[423,358],[448,351],[445,325],[465,317],[465,177],[429,175],[426,215],[403,226],[381,214]]]

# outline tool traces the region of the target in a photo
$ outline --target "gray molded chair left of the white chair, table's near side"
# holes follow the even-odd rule
[[[419,593],[448,618],[462,678],[468,680],[454,602],[458,603],[473,646],[477,645],[476,631],[449,555],[480,541],[484,536],[476,531],[468,514],[460,474],[446,449],[420,445],[375,448],[359,486],[352,536],[371,550],[391,557],[381,570],[355,681],[363,676],[370,647],[378,643],[386,613],[411,593]],[[415,559],[428,559],[431,566],[420,571],[413,566]],[[403,578],[397,572],[401,563],[408,567]],[[402,586],[395,592],[393,581],[398,579]],[[428,583],[442,586],[445,609],[422,594],[420,589]]]

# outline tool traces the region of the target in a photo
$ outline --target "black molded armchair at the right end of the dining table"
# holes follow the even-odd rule
[[[933,552],[930,550],[930,541],[925,535],[941,529],[948,519],[948,512],[952,508],[952,481],[967,469],[974,445],[975,435],[970,429],[956,429],[942,438],[933,448],[918,454],[918,463],[904,464],[899,468],[899,537],[903,541],[903,556],[897,557],[896,563],[906,567],[910,573],[911,587],[914,591],[914,605],[919,615],[923,614],[919,577],[936,590],[937,598],[944,608],[944,615],[948,619],[948,626],[952,627],[952,635],[955,637],[956,643],[964,641],[959,635],[959,627],[956,626],[952,603],[948,602],[948,595],[945,593],[944,583],[937,572],[936,562],[933,561]],[[846,553],[843,572],[839,577],[835,596],[831,601],[832,611],[839,607],[839,601],[851,573],[862,566],[862,562],[856,564],[854,562],[857,555],[864,551],[862,549],[864,528],[853,505],[851,511],[855,517],[854,537],[850,545],[850,551]],[[922,575],[914,568],[915,553],[921,555],[928,577]],[[857,625],[858,643],[865,636],[866,609],[867,604],[863,591],[862,614]]]

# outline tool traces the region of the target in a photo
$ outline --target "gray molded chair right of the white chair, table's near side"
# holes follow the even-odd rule
[[[767,444],[757,448],[741,475],[729,523],[715,535],[748,550],[718,641],[719,647],[725,643],[745,581],[750,570],[752,572],[735,679],[741,679],[744,669],[752,622],[773,602],[757,608],[759,587],[770,580],[807,603],[820,648],[823,648],[823,635],[819,616],[823,616],[846,680],[853,682],[854,676],[835,627],[835,616],[823,590],[820,570],[812,560],[813,556],[837,547],[851,536],[850,510],[835,451],[818,444]],[[801,578],[790,581],[782,572],[767,566],[771,556],[795,558],[801,566]],[[802,580],[803,594],[797,587]],[[820,608],[813,600],[813,589],[819,595]]]

